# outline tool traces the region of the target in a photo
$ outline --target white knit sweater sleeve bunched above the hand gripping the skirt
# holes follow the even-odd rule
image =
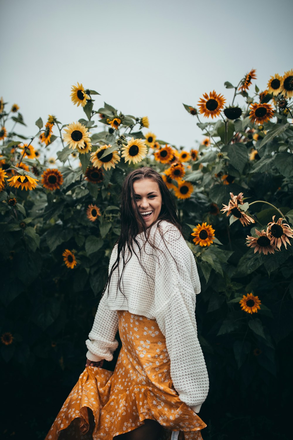
[[[109,273],[114,263],[114,249],[109,263]],[[108,361],[113,359],[113,352],[118,347],[118,341],[115,339],[118,330],[118,315],[116,310],[107,310],[105,308],[105,298],[107,290],[101,297],[98,310],[94,318],[94,324],[90,330],[87,345],[87,359],[98,362],[102,359]]]

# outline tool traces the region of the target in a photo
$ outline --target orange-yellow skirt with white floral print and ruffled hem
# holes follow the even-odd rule
[[[182,402],[170,376],[166,339],[156,319],[117,311],[122,347],[114,372],[86,367],[45,440],[112,440],[152,419],[160,440],[202,440],[206,423]],[[175,433],[174,433],[175,435]],[[118,440],[118,439],[117,439]]]

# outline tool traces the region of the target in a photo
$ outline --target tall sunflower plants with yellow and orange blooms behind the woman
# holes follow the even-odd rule
[[[17,130],[19,106],[1,97],[3,438],[44,438],[82,373],[119,237],[121,185],[142,166],[172,192],[199,270],[195,313],[210,378],[203,438],[289,438],[293,70],[268,74],[266,88],[256,80],[253,69],[226,81],[225,96],[183,104],[203,131],[196,148],[159,139],[148,117],[83,84],[71,89],[79,121],[39,117],[29,138]]]

